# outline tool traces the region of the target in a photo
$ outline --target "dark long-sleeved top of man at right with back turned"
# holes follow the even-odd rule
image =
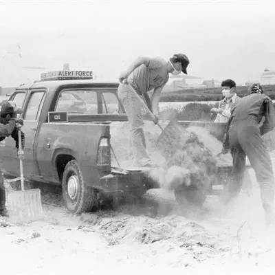
[[[265,118],[263,120],[263,118]],[[246,120],[247,124],[259,126],[261,135],[272,131],[275,127],[275,113],[272,100],[264,94],[250,94],[240,98],[232,106],[230,119],[225,127],[223,147],[229,148],[230,126]],[[262,125],[261,125],[261,122]]]

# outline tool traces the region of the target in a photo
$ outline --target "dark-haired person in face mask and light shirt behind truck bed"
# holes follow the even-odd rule
[[[223,80],[221,83],[223,100],[219,102],[218,108],[212,108],[212,113],[217,113],[214,122],[228,122],[230,118],[230,109],[239,96],[236,95],[236,83],[232,79]]]

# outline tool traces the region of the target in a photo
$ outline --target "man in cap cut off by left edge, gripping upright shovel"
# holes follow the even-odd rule
[[[23,110],[17,108],[17,105],[12,102],[5,100],[1,105],[0,111],[0,142],[5,137],[12,136],[15,140],[15,147],[17,148],[17,154],[23,155],[22,151],[19,151],[19,139],[18,131],[23,126],[23,120],[17,118],[17,114],[22,113]],[[22,148],[24,148],[25,135],[21,132]],[[0,152],[1,154],[1,152]],[[0,216],[8,217],[8,211],[5,208],[5,187],[4,178],[0,170]]]

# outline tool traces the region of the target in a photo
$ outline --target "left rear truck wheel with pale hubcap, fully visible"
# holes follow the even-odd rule
[[[62,179],[62,192],[69,212],[81,214],[96,206],[96,189],[83,182],[78,162],[75,159],[67,163]]]

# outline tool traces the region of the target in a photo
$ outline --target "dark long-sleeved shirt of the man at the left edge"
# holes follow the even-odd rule
[[[18,129],[16,127],[16,121],[11,119],[7,124],[3,124],[3,120],[0,117],[0,142],[5,140],[5,137],[12,136],[15,141],[15,147],[19,148]],[[25,134],[21,131],[21,144],[22,149],[25,145]]]

